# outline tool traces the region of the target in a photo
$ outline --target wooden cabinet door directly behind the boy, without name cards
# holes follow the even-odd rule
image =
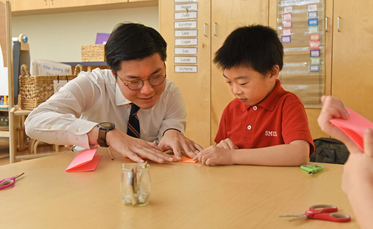
[[[211,0],[211,58],[237,26],[254,23],[268,25],[268,1]],[[223,110],[233,98],[222,71],[211,63],[211,144]]]

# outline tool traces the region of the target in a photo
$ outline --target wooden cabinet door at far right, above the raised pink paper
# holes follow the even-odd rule
[[[332,95],[370,120],[373,120],[372,14],[373,1],[334,1]]]

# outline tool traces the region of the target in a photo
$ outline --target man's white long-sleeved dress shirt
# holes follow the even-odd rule
[[[120,92],[109,69],[81,72],[25,120],[26,134],[49,144],[90,148],[87,133],[101,122],[112,122],[127,133],[131,101]],[[180,89],[166,78],[166,88],[156,105],[140,109],[140,138],[159,143],[163,132],[175,128],[185,133],[186,110]]]

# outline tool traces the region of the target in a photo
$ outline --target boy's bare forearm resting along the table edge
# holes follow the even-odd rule
[[[305,142],[305,141],[304,141]],[[235,164],[301,166],[309,161],[309,144],[283,144],[256,149],[233,150]]]

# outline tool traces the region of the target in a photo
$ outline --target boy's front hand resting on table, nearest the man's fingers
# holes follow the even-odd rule
[[[198,153],[193,160],[198,159],[198,161],[206,165],[210,165],[211,163],[230,165],[235,164],[233,161],[233,153],[232,150],[211,145]]]

